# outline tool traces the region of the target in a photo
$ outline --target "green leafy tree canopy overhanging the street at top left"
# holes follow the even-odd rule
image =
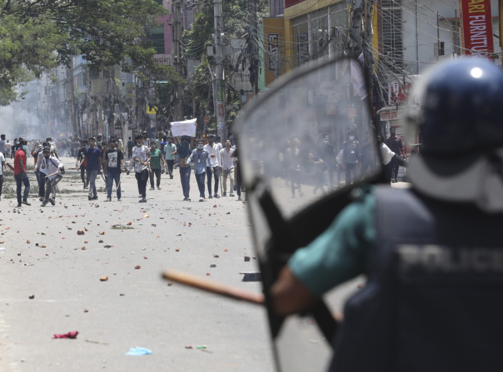
[[[153,0],[0,0],[0,105],[57,63],[82,55],[90,68],[151,65],[146,35],[166,11]]]

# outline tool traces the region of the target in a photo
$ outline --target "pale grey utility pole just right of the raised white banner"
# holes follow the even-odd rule
[[[215,78],[216,78],[216,107],[215,116],[217,118],[217,133],[222,140],[225,140],[225,105],[223,99],[223,66],[222,66],[222,36],[223,25],[221,16],[221,3],[220,0],[213,0],[213,15],[215,23]]]

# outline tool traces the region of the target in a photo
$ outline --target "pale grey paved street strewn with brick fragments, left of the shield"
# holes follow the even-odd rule
[[[74,159],[64,163],[54,207],[41,208],[33,195],[30,207],[17,209],[15,194],[5,192],[0,202],[0,247],[6,248],[0,370],[274,369],[264,309],[160,278],[169,267],[261,291],[260,282],[242,282],[239,274],[257,271],[256,260],[243,258],[254,256],[244,203],[183,202],[177,170],[172,180],[162,175],[160,191],[147,190],[148,203],[138,204],[134,174],[123,174],[120,202],[114,194],[106,203],[102,192],[90,202],[69,170]],[[12,171],[5,178],[4,188],[15,191],[7,180]],[[33,171],[30,180],[36,183]],[[191,181],[196,199],[193,174]],[[97,185],[104,186],[101,178]],[[87,231],[77,235],[78,229]],[[104,275],[107,282],[100,281]],[[51,339],[70,331],[79,332],[76,339]],[[136,346],[152,354],[125,355]]]

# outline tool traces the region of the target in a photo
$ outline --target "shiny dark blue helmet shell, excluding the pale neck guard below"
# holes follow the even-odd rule
[[[439,64],[418,81],[410,99],[406,120],[420,133],[422,153],[503,146],[503,70],[486,58]]]

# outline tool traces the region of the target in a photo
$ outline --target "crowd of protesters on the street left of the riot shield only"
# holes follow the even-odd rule
[[[60,156],[75,158],[75,167],[80,171],[83,188],[89,190],[88,199],[97,200],[96,178],[100,174],[107,186],[106,201],[112,201],[112,189],[115,183],[117,200],[121,200],[121,173],[129,174],[132,170],[138,183],[139,202],[146,202],[146,185],[150,181],[150,190],[160,190],[162,173],[174,178],[174,169],[178,168],[181,176],[183,200],[190,201],[191,162],[194,162],[194,172],[200,192],[199,201],[205,201],[205,178],[207,177],[208,198],[222,196],[234,197],[237,193],[241,199],[240,176],[234,173],[237,168],[237,150],[233,139],[227,140],[225,145],[219,138],[206,133],[200,140],[192,137],[177,137],[157,135],[148,138],[147,132],[131,137],[124,146],[122,139],[110,138],[106,140],[102,135],[89,139],[60,139],[46,138],[45,141],[15,138],[12,142],[6,135],[0,135],[0,199],[2,197],[4,169],[14,171],[16,180],[18,208],[30,206],[28,195],[30,179],[28,177],[26,161],[33,157],[34,169],[39,186],[39,200],[44,207],[48,203],[55,205],[56,185],[63,178],[65,169]],[[197,145],[197,147],[196,147]],[[124,163],[125,151],[129,158],[129,167]],[[195,160],[195,156],[197,159]],[[14,165],[7,162],[14,159]],[[222,177],[223,176],[223,181]],[[227,194],[227,178],[230,179],[230,192]],[[219,193],[220,189],[223,190]],[[237,187],[239,185],[239,188]],[[24,191],[22,190],[24,186]],[[23,192],[22,192],[23,191]]]

